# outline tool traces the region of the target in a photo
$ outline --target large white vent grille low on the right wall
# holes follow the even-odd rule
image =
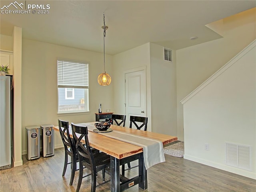
[[[252,170],[252,146],[226,143],[226,165]]]

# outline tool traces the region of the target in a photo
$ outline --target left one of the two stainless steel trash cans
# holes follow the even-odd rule
[[[31,125],[25,127],[28,135],[27,159],[40,158],[40,126]]]

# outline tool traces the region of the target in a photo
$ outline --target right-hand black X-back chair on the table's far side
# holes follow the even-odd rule
[[[141,123],[140,125],[138,125],[139,123]],[[130,128],[132,128],[132,125],[135,125],[136,129],[141,129],[144,127],[144,131],[147,130],[147,124],[148,124],[148,118],[147,117],[138,117],[138,116],[130,116]],[[128,168],[125,169],[125,165],[122,165],[122,175],[124,176],[124,172],[126,170],[138,167],[138,165],[131,167],[130,162],[127,163]]]

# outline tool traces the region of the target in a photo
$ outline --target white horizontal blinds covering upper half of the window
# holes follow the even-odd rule
[[[58,60],[58,88],[89,88],[88,63]]]

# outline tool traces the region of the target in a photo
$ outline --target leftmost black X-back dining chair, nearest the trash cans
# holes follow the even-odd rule
[[[71,164],[71,176],[69,185],[72,185],[75,176],[75,171],[78,170],[76,169],[76,163],[79,161],[79,158],[78,154],[76,153],[76,147],[72,141],[73,139],[70,137],[70,133],[68,130],[68,121],[62,121],[58,119],[58,125],[60,129],[60,137],[62,139],[65,149],[65,160],[62,176],[64,176],[66,173],[67,165]],[[68,155],[71,158],[70,163],[68,163]]]

